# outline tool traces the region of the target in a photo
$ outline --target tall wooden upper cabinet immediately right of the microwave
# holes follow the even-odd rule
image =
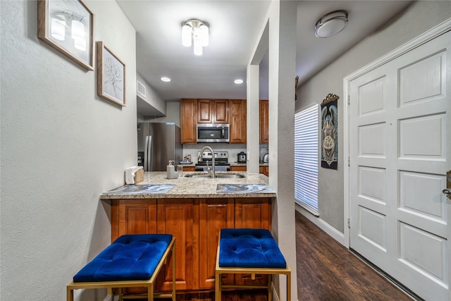
[[[230,143],[246,143],[246,99],[230,99]]]

